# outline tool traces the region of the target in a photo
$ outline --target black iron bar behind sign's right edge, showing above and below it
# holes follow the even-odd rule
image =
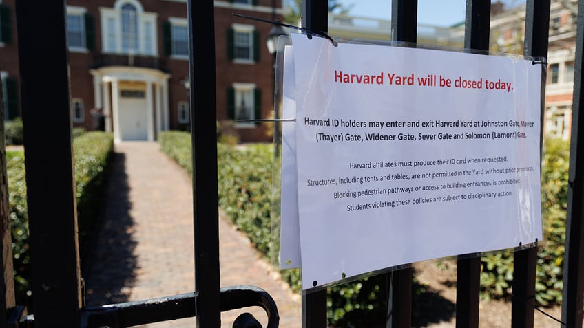
[[[547,56],[550,30],[550,0],[528,0],[525,5],[526,56]],[[541,105],[544,108],[545,83],[541,85]],[[543,131],[543,111],[540,117]],[[540,135],[541,135],[540,131]],[[540,149],[541,151],[541,149]],[[511,327],[533,327],[535,305],[535,276],[537,248],[528,248],[514,253],[513,303]]]

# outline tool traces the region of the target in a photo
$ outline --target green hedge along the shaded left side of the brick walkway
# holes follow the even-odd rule
[[[73,149],[79,231],[83,241],[97,212],[101,186],[113,152],[113,136],[104,132],[84,133],[74,139]],[[30,255],[24,153],[7,151],[6,158],[17,304],[29,305]]]

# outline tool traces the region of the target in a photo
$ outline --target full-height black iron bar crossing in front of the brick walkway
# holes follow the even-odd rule
[[[215,25],[212,0],[189,0],[196,327],[220,327]],[[196,45],[196,47],[195,47]],[[197,110],[195,110],[197,109]]]

